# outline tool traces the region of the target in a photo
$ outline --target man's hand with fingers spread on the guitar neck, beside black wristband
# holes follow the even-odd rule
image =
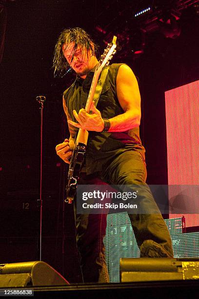
[[[85,109],[80,109],[79,114],[76,110],[73,110],[73,114],[78,123],[71,120],[68,120],[68,123],[76,128],[101,132],[104,128],[104,121],[101,117],[100,111],[95,107],[94,102],[92,102],[90,110],[93,112],[92,114],[87,113]]]

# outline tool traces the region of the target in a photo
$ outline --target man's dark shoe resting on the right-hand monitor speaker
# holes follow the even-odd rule
[[[145,240],[140,247],[140,257],[173,257],[153,240]]]

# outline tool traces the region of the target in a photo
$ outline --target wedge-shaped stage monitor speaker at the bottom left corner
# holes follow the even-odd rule
[[[0,287],[68,285],[54,268],[43,261],[0,265]]]

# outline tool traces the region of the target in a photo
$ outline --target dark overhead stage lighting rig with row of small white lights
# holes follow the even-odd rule
[[[145,39],[153,32],[160,32],[166,38],[176,39],[180,35],[180,17],[183,10],[193,6],[198,11],[199,0],[151,0],[138,1],[122,6],[113,19],[108,18],[108,24],[103,23],[95,27],[95,33],[101,35],[101,46],[107,45],[113,37],[118,37],[117,57],[134,58],[144,52]],[[111,11],[106,9],[106,15]]]

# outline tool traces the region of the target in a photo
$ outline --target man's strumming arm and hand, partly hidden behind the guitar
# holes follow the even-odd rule
[[[65,100],[63,98],[63,109],[64,112],[66,114],[67,120],[72,120],[70,117],[70,114],[68,113],[68,109],[66,107],[66,103]],[[69,139],[65,139],[64,142],[58,144],[56,146],[56,152],[58,154],[58,156],[65,162],[70,164],[69,159],[71,158],[72,155],[72,151],[74,149],[75,146],[75,135],[76,135],[76,128],[74,128],[73,126],[68,124],[68,128],[70,131],[70,137]]]

